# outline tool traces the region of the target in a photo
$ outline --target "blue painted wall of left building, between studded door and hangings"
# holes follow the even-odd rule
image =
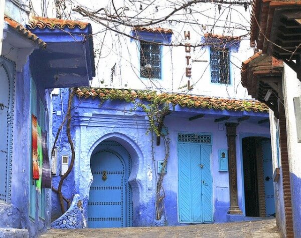
[[[34,80],[34,79],[33,79]],[[38,80],[36,81],[38,82]],[[13,160],[12,160],[12,197],[10,204],[2,204],[0,212],[2,219],[0,226],[25,228],[30,237],[43,232],[50,224],[51,193],[45,193],[45,220],[38,217],[38,203],[36,206],[35,222],[29,218],[29,185],[31,156],[31,70],[29,63],[24,66],[23,72],[16,73],[15,111],[13,132]],[[37,83],[38,94],[42,103],[51,105],[49,92]],[[50,113],[51,107],[48,108]],[[51,114],[49,114],[51,115]],[[50,117],[51,119],[51,117]],[[51,128],[49,128],[51,129]],[[49,131],[48,129],[48,131]],[[38,196],[38,194],[36,194]]]

